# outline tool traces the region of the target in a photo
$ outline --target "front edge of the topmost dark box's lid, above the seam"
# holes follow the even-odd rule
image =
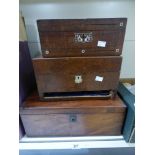
[[[41,19],[37,20],[38,31],[75,31],[97,30],[98,28],[122,29],[126,27],[127,18],[90,18],[90,19]],[[96,29],[96,26],[97,29]]]

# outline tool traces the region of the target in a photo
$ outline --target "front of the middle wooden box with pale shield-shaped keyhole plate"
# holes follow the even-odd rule
[[[121,57],[34,59],[40,92],[114,90],[117,88]]]

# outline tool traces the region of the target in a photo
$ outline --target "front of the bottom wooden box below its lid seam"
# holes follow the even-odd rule
[[[124,113],[21,115],[27,136],[120,135]]]

